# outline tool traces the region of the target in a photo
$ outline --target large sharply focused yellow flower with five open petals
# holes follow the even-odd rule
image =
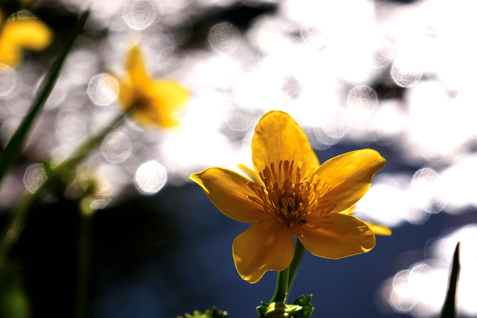
[[[294,254],[294,236],[316,256],[341,258],[371,250],[373,231],[342,213],[368,191],[385,160],[364,149],[319,164],[300,126],[288,115],[263,115],[252,139],[252,163],[261,183],[213,167],[191,174],[225,215],[254,223],[237,236],[232,254],[239,275],[257,282],[282,271]]]

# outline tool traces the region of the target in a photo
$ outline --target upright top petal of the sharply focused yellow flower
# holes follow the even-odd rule
[[[279,166],[280,160],[294,160],[292,182],[296,167],[302,164],[302,175],[309,165],[318,167],[318,159],[311,149],[308,138],[291,116],[282,111],[270,111],[263,115],[255,127],[252,138],[252,162],[255,172],[261,173],[266,165]]]

